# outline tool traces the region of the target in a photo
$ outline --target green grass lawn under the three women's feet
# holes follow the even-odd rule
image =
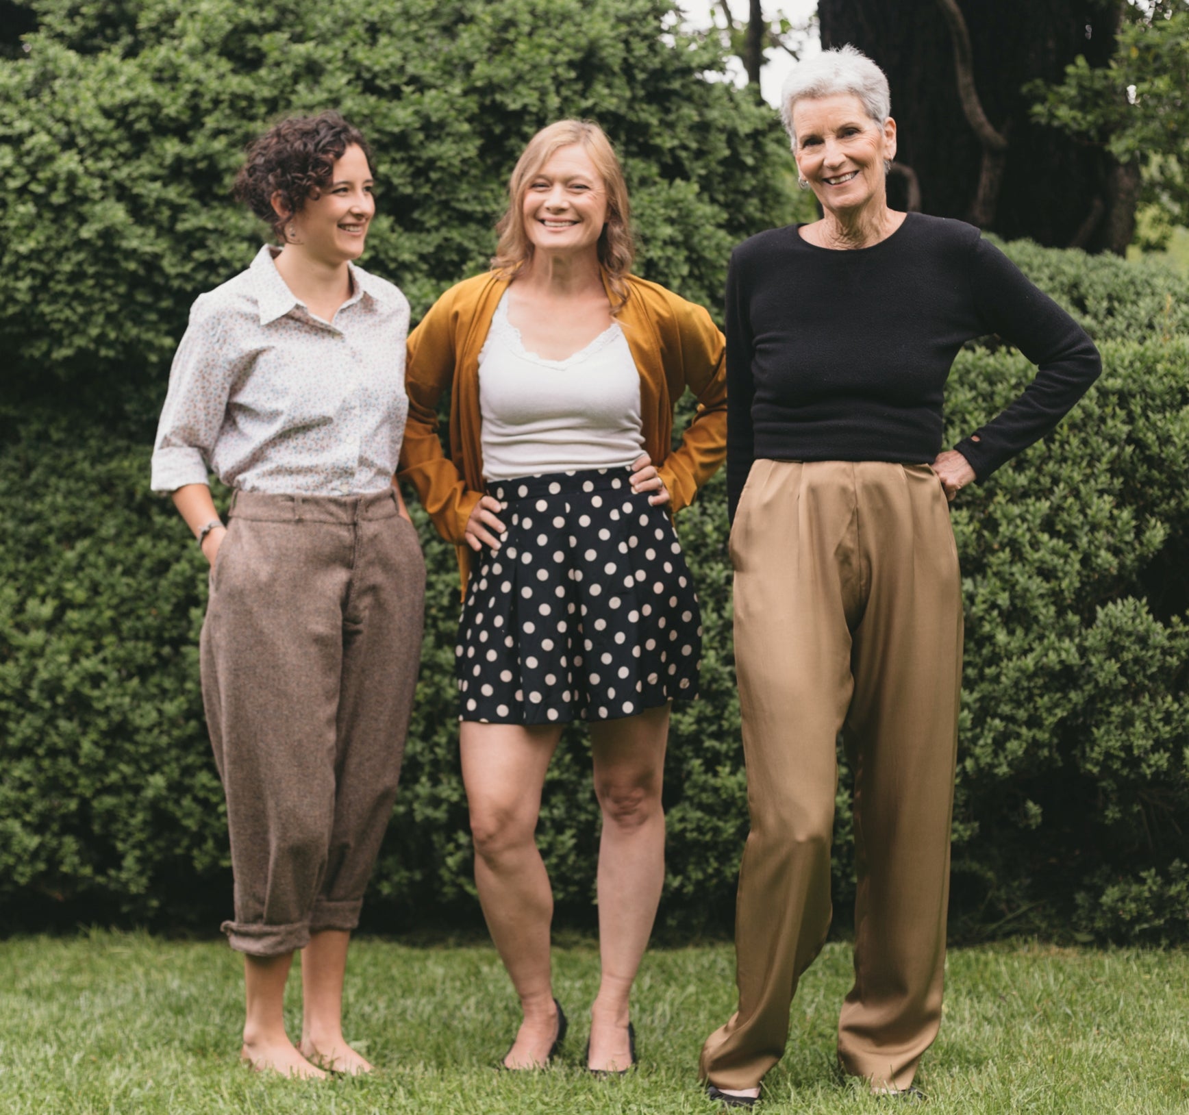
[[[640,1071],[581,1069],[597,952],[556,950],[571,1016],[561,1063],[495,1064],[517,1013],[486,945],[361,939],[347,974],[346,1032],[367,1078],[300,1083],[239,1066],[239,958],[221,943],[94,933],[0,941],[0,1111],[45,1113],[702,1113],[694,1078],[707,1031],[732,1007],[725,945],[654,950],[634,1002]],[[876,1111],[835,1067],[850,950],[829,945],[803,981],[769,1113]],[[918,1083],[927,1110],[1189,1111],[1189,953],[1008,943],[950,952],[945,1019]],[[300,1022],[291,981],[290,1021]],[[296,1033],[296,1028],[291,1029]]]

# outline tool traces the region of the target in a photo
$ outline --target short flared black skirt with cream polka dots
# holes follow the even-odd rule
[[[455,647],[459,718],[614,720],[693,700],[702,616],[665,508],[629,468],[498,480],[495,553],[472,563]]]

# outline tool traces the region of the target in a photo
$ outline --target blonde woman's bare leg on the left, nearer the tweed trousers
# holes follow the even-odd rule
[[[541,787],[560,737],[560,727],[473,720],[464,720],[460,732],[474,882],[524,1013],[504,1059],[509,1069],[543,1064],[558,1035],[549,965],[553,892],[535,832]]]

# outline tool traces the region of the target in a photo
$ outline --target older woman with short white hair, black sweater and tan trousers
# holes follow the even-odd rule
[[[977,228],[888,208],[887,78],[851,46],[782,92],[819,221],[740,245],[726,281],[735,655],[751,831],[738,1009],[706,1040],[710,1095],[750,1107],[830,925],[843,736],[854,771],[855,983],[843,1070],[919,1097],[942,1013],[962,600],[948,504],[1043,437],[1097,377],[1086,333]],[[996,333],[1038,365],[942,449],[961,346]]]

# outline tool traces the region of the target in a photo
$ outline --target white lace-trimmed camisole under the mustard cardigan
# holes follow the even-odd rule
[[[640,372],[618,322],[546,360],[508,320],[507,291],[479,352],[479,411],[489,480],[623,467],[644,452]]]

